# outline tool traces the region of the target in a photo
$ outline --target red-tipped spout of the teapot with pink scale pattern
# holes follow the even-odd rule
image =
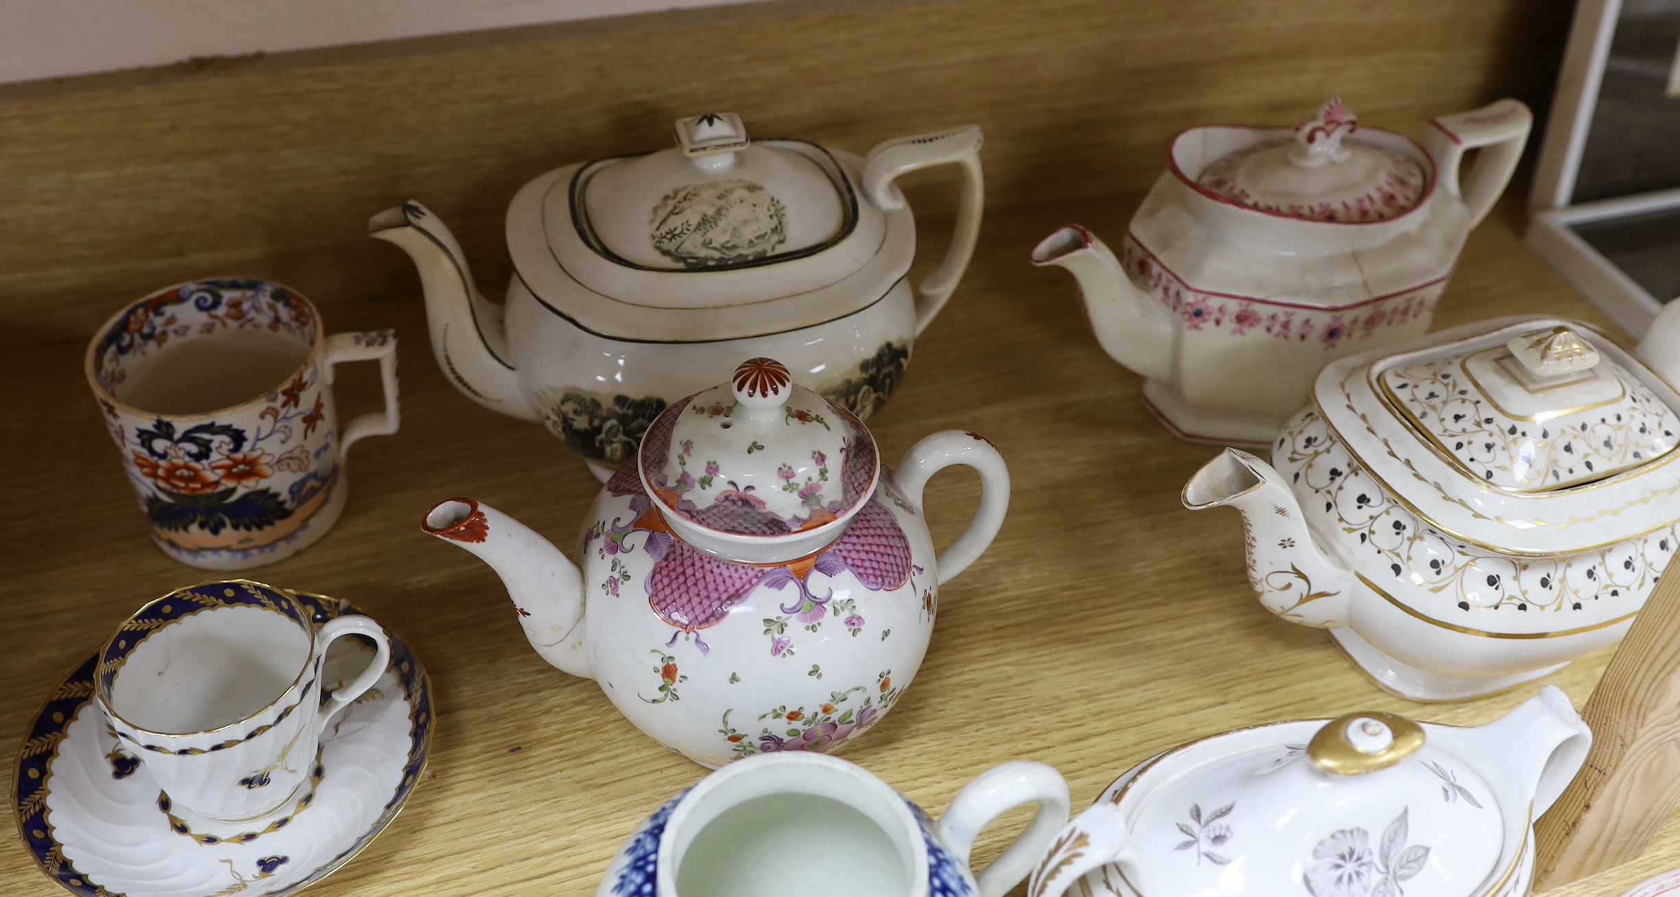
[[[583,625],[583,573],[564,553],[522,522],[472,499],[440,502],[420,521],[420,529],[491,564],[543,660],[593,679]]]

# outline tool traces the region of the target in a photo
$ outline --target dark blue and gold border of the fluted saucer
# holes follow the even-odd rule
[[[329,595],[321,595],[321,593],[312,593],[312,591],[286,590],[286,588],[279,588],[279,586],[269,586],[269,588],[274,588],[276,591],[282,591],[282,593],[287,593],[287,595],[294,596],[297,600],[297,603],[302,605],[302,608],[311,613],[311,618],[324,615],[326,620],[333,620],[333,618],[344,616],[344,615],[360,615],[360,616],[368,616],[370,620],[378,622],[376,618],[373,618],[373,615],[370,615],[370,613],[356,608],[351,601],[343,600],[343,598],[333,598]],[[319,620],[319,622],[324,622],[324,620]],[[385,628],[383,623],[380,623],[380,627]],[[339,853],[333,860],[329,860],[324,865],[321,865],[316,870],[312,870],[309,873],[309,877],[306,877],[304,880],[301,880],[297,884],[292,884],[292,885],[287,885],[287,887],[284,887],[281,890],[274,890],[274,892],[267,894],[265,897],[289,897],[291,894],[297,894],[297,892],[301,892],[301,890],[304,890],[304,889],[307,889],[311,885],[316,885],[316,884],[326,880],[329,875],[333,875],[334,872],[338,872],[339,868],[343,868],[346,863],[349,863],[351,860],[354,860],[386,828],[390,828],[390,825],[393,821],[396,821],[396,816],[402,815],[403,808],[408,805],[408,798],[413,796],[415,789],[420,786],[420,783],[427,776],[427,769],[430,768],[430,763],[432,763],[432,736],[433,736],[433,732],[437,729],[437,709],[435,709],[433,700],[432,700],[432,675],[427,672],[425,665],[420,664],[420,658],[415,657],[413,650],[408,648],[407,642],[403,642],[390,628],[385,628],[385,633],[390,637],[391,648],[393,648],[390,662],[386,664],[385,669],[388,672],[395,672],[396,677],[398,677],[398,682],[400,682],[402,677],[403,677],[403,674],[400,672],[398,665],[403,660],[407,660],[408,664],[413,665],[413,695],[412,695],[412,709],[408,712],[408,719],[410,719],[410,734],[408,734],[408,737],[410,737],[410,753],[408,753],[408,758],[405,758],[405,763],[403,763],[405,769],[410,768],[410,764],[413,763],[415,754],[418,754],[418,764],[413,766],[413,776],[407,779],[407,784],[405,783],[398,783],[396,795],[393,795],[391,800],[386,801],[385,810],[380,813],[380,818],[375,820],[373,825],[370,825],[366,830],[363,830],[356,837],[356,840],[351,843],[349,848],[346,848],[343,853]],[[34,862],[35,868],[40,870],[40,873],[45,875],[52,884],[59,885],[60,889],[64,889],[69,894],[76,894],[77,897],[126,897],[124,894],[119,894],[119,892],[114,892],[114,890],[106,890],[104,885],[94,882],[92,879],[89,879],[87,875],[84,875],[82,872],[79,872],[71,863],[71,860],[62,855],[62,847],[64,845],[54,837],[52,826],[45,823],[45,815],[47,815],[45,798],[42,798],[40,806],[37,810],[34,810],[32,813],[29,813],[29,815],[24,813],[22,801],[20,801],[20,795],[22,795],[22,789],[24,789],[24,763],[29,761],[29,759],[32,759],[32,758],[37,758],[40,754],[45,754],[45,759],[42,761],[44,773],[42,773],[42,776],[39,779],[39,789],[45,789],[47,784],[52,779],[52,773],[50,773],[52,761],[59,756],[59,749],[60,749],[60,746],[64,744],[64,741],[66,741],[66,737],[69,734],[69,726],[77,719],[77,716],[81,714],[82,709],[86,709],[86,707],[89,707],[89,706],[94,704],[94,700],[96,700],[96,684],[97,684],[97,665],[99,665],[101,652],[102,652],[102,645],[101,645],[101,648],[94,648],[86,658],[82,658],[79,664],[76,664],[74,667],[71,667],[62,677],[59,677],[59,680],[49,689],[47,697],[42,699],[40,706],[30,716],[30,722],[29,722],[29,726],[24,731],[22,742],[18,744],[17,756],[13,759],[13,771],[15,773],[12,776],[12,795],[10,795],[12,796],[12,818],[17,820],[17,837],[18,837],[18,842],[24,845],[24,850],[29,853],[29,858]],[[77,677],[77,674],[82,674],[84,670],[87,672],[87,694],[82,694],[82,695],[69,694],[69,695],[55,697],[55,695],[59,695],[59,692],[66,685],[71,685],[72,682],[79,682],[76,677]],[[55,700],[67,700],[67,699],[74,699],[74,700],[77,700],[77,704],[74,706],[74,709],[71,709],[66,714],[64,722],[54,722],[54,726],[57,726],[59,737],[52,742],[52,748],[49,751],[37,751],[35,754],[25,756],[25,751],[29,751],[30,742],[34,742],[39,737],[39,736],[35,736],[35,731],[40,726],[40,722],[47,717],[49,707]],[[418,717],[418,714],[420,714],[422,709],[425,711],[425,719],[423,721]],[[37,793],[39,793],[39,789],[37,789]],[[59,868],[60,868],[60,872],[57,875],[54,875],[52,872],[47,870],[45,863],[42,862],[40,853],[37,853],[37,850],[35,850],[35,843],[30,842],[30,838],[29,838],[27,823],[32,818],[40,820],[40,825],[47,831],[45,843],[49,845],[49,848],[47,848],[49,853],[54,848],[59,850],[59,857],[60,857],[60,867]],[[72,885],[69,880],[66,880],[66,877],[69,877],[71,880],[79,880],[81,885]]]

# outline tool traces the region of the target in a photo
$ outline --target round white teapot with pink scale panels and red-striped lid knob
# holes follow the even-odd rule
[[[581,569],[469,499],[423,529],[496,568],[536,652],[667,748],[712,768],[828,751],[904,694],[939,586],[1010,504],[1003,457],[974,433],[934,433],[895,472],[875,452],[857,415],[754,358],[654,420],[590,509]],[[979,472],[979,509],[936,559],[922,487],[958,464]]]

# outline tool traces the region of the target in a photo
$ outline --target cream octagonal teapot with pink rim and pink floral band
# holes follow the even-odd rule
[[[1147,378],[1173,433],[1263,447],[1326,363],[1430,329],[1532,118],[1502,99],[1431,121],[1421,146],[1361,128],[1339,99],[1294,129],[1191,128],[1119,259],[1074,225],[1033,264],[1079,279],[1102,348]]]

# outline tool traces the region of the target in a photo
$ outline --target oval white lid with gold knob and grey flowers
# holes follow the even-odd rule
[[[1488,783],[1394,714],[1230,732],[1152,766],[1114,798],[1132,806],[1141,894],[1226,894],[1238,877],[1245,894],[1465,897],[1505,853]]]

